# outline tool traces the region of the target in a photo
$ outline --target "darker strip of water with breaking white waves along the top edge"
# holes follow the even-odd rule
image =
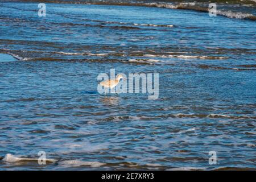
[[[5,1],[3,1],[5,2]],[[9,0],[6,0],[9,2]],[[12,1],[13,2],[13,1]],[[14,1],[15,2],[15,1]],[[28,2],[21,0],[19,2]],[[40,2],[34,0],[30,2]],[[144,7],[159,7],[167,9],[191,10],[208,13],[208,5],[211,1],[70,1],[70,0],[46,0],[45,3],[63,3],[77,5],[112,5],[112,6],[144,6]],[[256,20],[256,1],[215,1],[217,5],[217,15],[227,18]]]

